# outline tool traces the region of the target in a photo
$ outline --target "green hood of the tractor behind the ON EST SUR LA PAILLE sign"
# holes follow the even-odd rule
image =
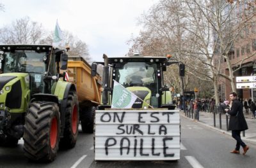
[[[127,87],[127,90],[131,91],[133,94],[140,97],[140,99],[136,99],[132,108],[148,108],[148,104],[150,104],[151,90],[147,87]],[[143,100],[143,101],[141,101]]]

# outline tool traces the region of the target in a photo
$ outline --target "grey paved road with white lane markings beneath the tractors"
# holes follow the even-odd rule
[[[250,144],[246,155],[229,153],[235,141],[227,134],[205,127],[181,116],[180,160],[173,161],[108,161],[93,160],[93,135],[79,134],[77,145],[72,150],[59,151],[56,160],[50,164],[28,162],[23,155],[22,141],[17,148],[0,148],[0,167],[255,167],[256,146]]]

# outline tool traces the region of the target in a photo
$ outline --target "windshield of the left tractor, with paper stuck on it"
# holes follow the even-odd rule
[[[44,72],[47,71],[46,59],[45,52],[5,52],[3,73],[29,73],[31,94],[44,93]]]

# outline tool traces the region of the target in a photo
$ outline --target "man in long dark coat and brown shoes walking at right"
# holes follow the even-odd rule
[[[240,146],[243,147],[243,155],[249,150],[247,146],[241,139],[240,133],[242,130],[248,129],[246,120],[243,114],[243,105],[237,100],[237,94],[231,92],[229,94],[229,99],[231,102],[231,109],[225,109],[225,111],[230,115],[229,120],[229,130],[232,130],[232,137],[236,139],[236,149],[230,151],[230,153],[239,154]]]

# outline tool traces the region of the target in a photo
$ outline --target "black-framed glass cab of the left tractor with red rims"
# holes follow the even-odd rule
[[[51,94],[51,86],[56,78],[51,79],[49,76],[58,73],[56,65],[63,53],[63,50],[54,49],[50,45],[1,45],[0,70],[4,74],[29,74],[31,95]]]

